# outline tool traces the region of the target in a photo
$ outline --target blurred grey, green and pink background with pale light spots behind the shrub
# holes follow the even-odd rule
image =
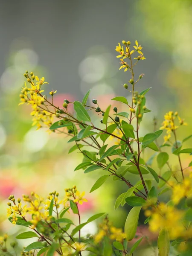
[[[68,154],[72,145],[65,137],[49,135],[47,129],[35,131],[29,108],[18,106],[23,73],[44,76],[47,93],[58,91],[57,105],[63,99],[81,101],[92,88],[90,100],[97,99],[105,108],[115,95],[130,97],[122,86],[130,74],[118,71],[115,47],[122,40],[133,45],[137,39],[146,57],[136,68],[136,73],[145,74],[137,90],[152,87],[147,108],[153,110],[146,114],[141,135],[153,131],[154,116],[160,127],[163,114],[172,110],[188,122],[178,135],[186,137],[192,125],[192,1],[0,2],[0,232],[17,233],[6,220],[10,194],[21,197],[35,191],[46,196],[56,189],[64,195],[64,188],[73,184],[87,193],[85,219],[108,212],[113,223],[123,227],[128,208],[114,211],[113,205],[127,188],[121,182],[116,187],[108,183],[88,194],[98,173],[74,173],[81,155]],[[187,165],[190,159],[184,161]],[[144,219],[141,216],[141,224]],[[96,224],[88,229],[96,232]]]

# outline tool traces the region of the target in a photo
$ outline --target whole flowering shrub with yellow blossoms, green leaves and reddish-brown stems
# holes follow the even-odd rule
[[[50,256],[56,251],[60,255],[83,255],[89,251],[90,255],[132,255],[143,237],[138,239],[131,247],[137,232],[140,211],[143,208],[149,230],[158,233],[158,253],[160,256],[169,255],[191,255],[192,252],[192,175],[185,172],[181,162],[182,154],[192,155],[192,148],[182,148],[183,144],[192,135],[177,140],[177,130],[186,125],[177,112],[169,111],[164,116],[162,126],[156,130],[157,120],[154,119],[153,132],[140,136],[140,125],[145,115],[150,112],[146,107],[145,95],[151,88],[137,92],[137,83],[143,78],[140,74],[135,78],[134,68],[138,62],[145,60],[142,47],[135,41],[131,49],[130,41],[122,41],[116,47],[117,58],[120,58],[120,68],[130,72],[131,78],[123,86],[127,93],[131,93],[132,100],[123,96],[117,96],[112,101],[120,102],[125,106],[125,111],[119,112],[117,107],[107,109],[99,107],[99,102],[93,99],[92,105],[87,105],[90,90],[84,96],[82,102],[69,102],[64,99],[63,108],[54,105],[56,91],[49,92],[49,97],[44,95],[44,77],[41,79],[33,72],[24,74],[27,81],[20,94],[20,104],[29,104],[32,107],[32,125],[37,129],[47,126],[49,132],[63,133],[70,136],[68,143],[74,145],[70,152],[80,151],[83,155],[82,163],[75,171],[80,169],[84,173],[93,172],[97,169],[103,170],[103,175],[93,184],[90,192],[99,189],[107,180],[110,182],[121,181],[128,186],[127,191],[118,196],[115,209],[128,204],[133,207],[125,222],[124,231],[113,227],[108,217],[100,224],[96,235],[81,236],[81,228],[101,217],[104,213],[93,215],[85,223],[81,223],[79,204],[86,202],[84,193],[77,191],[76,186],[66,189],[64,199],[58,199],[58,192],[49,194],[47,200],[35,193],[31,196],[23,196],[24,205],[21,200],[17,203],[13,195],[9,197],[8,214],[9,220],[15,225],[29,227],[28,231],[17,236],[17,239],[36,237],[38,241],[29,244],[22,255],[26,252],[40,249],[37,255],[46,253]],[[75,114],[68,111],[68,105],[73,104]],[[95,125],[91,119],[92,113],[96,112],[102,116],[100,125]],[[55,122],[55,119],[58,121]],[[158,138],[166,130],[164,143],[159,144]],[[115,138],[116,140],[108,140]],[[171,148],[169,154],[164,148]],[[145,151],[155,151],[149,160],[145,159]],[[169,157],[174,155],[178,160],[178,168],[172,169]],[[157,161],[157,166],[151,166]],[[167,171],[163,167],[168,168]],[[164,168],[165,169],[165,168]],[[129,174],[139,177],[137,183],[129,181]],[[150,175],[150,178],[145,178]],[[103,185],[105,186],[105,185]],[[164,187],[164,188],[163,188]],[[159,196],[168,192],[171,200],[160,202]],[[64,214],[72,211],[79,216],[79,224],[76,226],[71,219],[63,218]],[[78,235],[77,235],[78,234]],[[178,254],[179,253],[179,254]]]

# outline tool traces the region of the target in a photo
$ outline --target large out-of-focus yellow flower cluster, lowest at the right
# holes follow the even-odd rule
[[[186,228],[182,222],[184,212],[174,206],[168,206],[161,202],[156,208],[146,210],[145,215],[147,217],[151,216],[149,229],[152,232],[157,232],[166,227],[171,239],[176,239],[185,234]]]

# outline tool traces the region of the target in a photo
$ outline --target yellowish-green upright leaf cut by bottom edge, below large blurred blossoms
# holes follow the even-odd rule
[[[158,250],[159,256],[169,256],[169,247],[170,247],[170,240],[169,240],[169,233],[166,228],[163,228],[158,236]]]

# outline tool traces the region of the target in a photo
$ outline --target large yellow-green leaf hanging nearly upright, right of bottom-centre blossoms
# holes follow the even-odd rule
[[[125,221],[125,234],[128,241],[131,241],[135,237],[140,210],[141,207],[133,207]]]

